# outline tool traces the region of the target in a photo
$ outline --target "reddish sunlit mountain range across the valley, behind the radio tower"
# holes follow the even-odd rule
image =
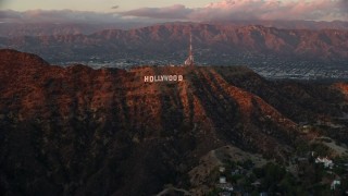
[[[259,25],[163,24],[129,30],[107,29],[91,35],[1,38],[0,46],[38,53],[49,61],[80,61],[91,57],[103,60],[184,59],[190,33],[195,56],[208,62],[235,54],[348,59],[347,30],[278,29]]]

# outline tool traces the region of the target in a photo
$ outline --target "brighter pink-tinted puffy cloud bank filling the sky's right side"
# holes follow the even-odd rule
[[[189,21],[217,20],[348,20],[348,0],[223,0],[190,9],[182,4],[141,8],[120,14],[151,19]]]

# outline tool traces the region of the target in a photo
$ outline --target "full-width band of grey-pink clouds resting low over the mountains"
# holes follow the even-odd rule
[[[112,9],[117,9],[117,5]],[[0,10],[0,22],[15,23],[160,23],[167,21],[313,20],[348,21],[348,0],[223,0],[203,8],[174,4],[125,12],[73,10]]]

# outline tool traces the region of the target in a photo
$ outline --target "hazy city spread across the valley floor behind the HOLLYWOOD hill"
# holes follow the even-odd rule
[[[245,65],[256,73],[269,79],[301,79],[301,81],[339,81],[348,79],[348,60],[321,61],[308,59],[291,59],[275,56],[252,56],[252,54],[211,54],[195,50],[196,63],[201,66],[210,65]],[[92,69],[117,68],[130,69],[139,65],[177,66],[183,64],[185,52],[177,53],[175,58],[146,59],[145,57],[126,59],[117,57],[104,60],[98,57],[90,57],[82,61],[60,61],[54,62],[66,66],[70,64],[86,64]],[[212,57],[210,57],[212,56]]]

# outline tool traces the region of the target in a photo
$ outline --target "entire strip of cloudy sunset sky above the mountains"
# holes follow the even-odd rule
[[[348,0],[0,0],[0,22],[348,21]]]

